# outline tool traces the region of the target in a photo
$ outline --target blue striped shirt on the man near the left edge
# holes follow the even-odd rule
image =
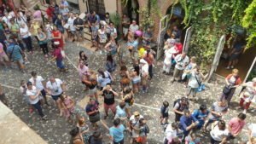
[[[21,60],[22,55],[21,55],[21,49],[20,46],[15,44],[15,43],[10,43],[8,48],[7,48],[7,53],[11,55],[12,60]]]

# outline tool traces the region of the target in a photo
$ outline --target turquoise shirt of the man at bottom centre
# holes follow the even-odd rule
[[[124,139],[124,130],[125,127],[123,124],[120,124],[119,127],[111,127],[109,129],[109,134],[113,137],[114,142],[119,142]]]

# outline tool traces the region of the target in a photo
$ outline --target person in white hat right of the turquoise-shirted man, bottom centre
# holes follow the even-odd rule
[[[129,129],[131,131],[132,142],[136,142],[139,137],[139,120],[143,118],[143,116],[139,112],[133,112],[133,115],[130,117]]]

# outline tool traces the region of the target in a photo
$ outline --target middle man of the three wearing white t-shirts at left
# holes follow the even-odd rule
[[[29,79],[29,81],[41,92],[41,95],[44,97],[44,102],[46,105],[49,106],[49,103],[46,98],[46,92],[45,92],[45,82],[44,78],[41,76],[38,76],[37,72],[32,71],[31,72],[32,78]]]

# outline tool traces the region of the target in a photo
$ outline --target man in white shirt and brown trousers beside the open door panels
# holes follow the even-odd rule
[[[189,56],[187,56],[186,53],[179,54],[175,56],[174,60],[176,62],[176,65],[173,72],[172,83],[175,80],[180,81],[181,76],[183,74],[183,70],[186,68],[187,65],[189,65]]]

